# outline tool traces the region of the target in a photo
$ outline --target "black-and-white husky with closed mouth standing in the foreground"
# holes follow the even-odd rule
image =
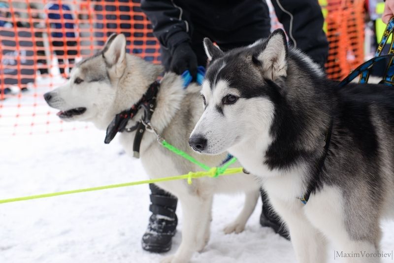
[[[364,252],[346,262],[378,262],[365,252],[379,250],[380,219],[394,213],[393,89],[338,88],[281,30],[228,53],[204,46],[204,113],[190,145],[229,151],[261,178],[298,262],[326,262],[328,240]]]

